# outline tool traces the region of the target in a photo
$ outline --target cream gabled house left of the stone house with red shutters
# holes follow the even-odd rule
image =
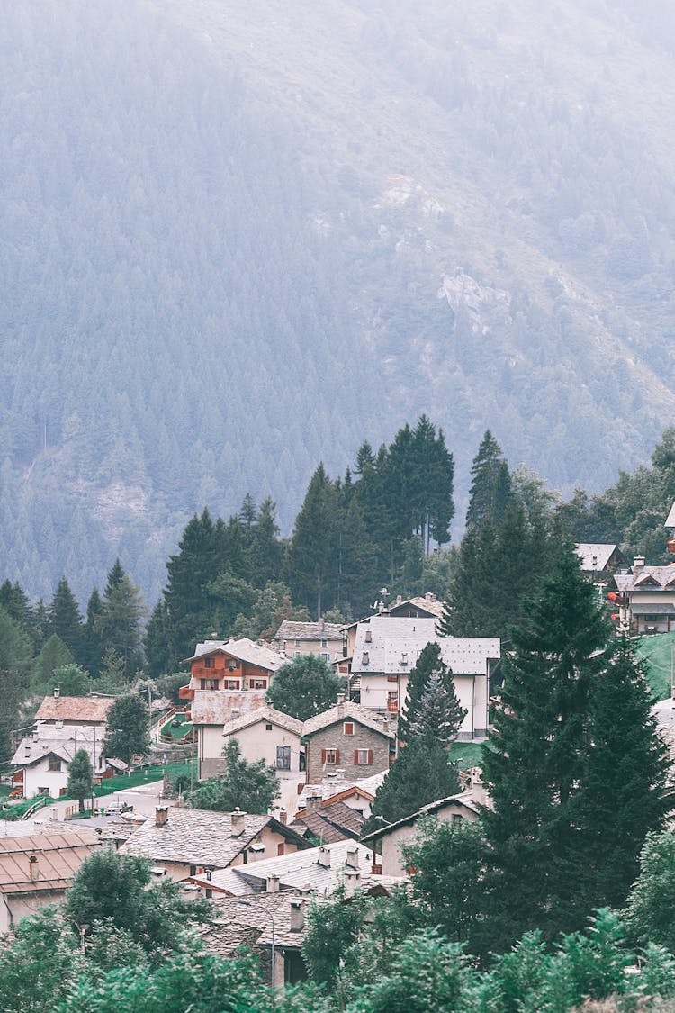
[[[269,705],[241,714],[223,728],[226,741],[237,738],[245,760],[264,760],[275,769],[279,780],[296,782],[305,771],[302,734],[302,721]]]

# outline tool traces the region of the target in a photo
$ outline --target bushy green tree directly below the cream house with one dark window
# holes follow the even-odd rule
[[[241,756],[236,738],[229,738],[223,750],[225,772],[201,781],[187,796],[195,809],[232,812],[267,812],[279,793],[276,772],[264,760],[249,763]]]

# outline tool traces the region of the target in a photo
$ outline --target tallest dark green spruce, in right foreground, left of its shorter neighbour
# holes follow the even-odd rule
[[[575,795],[588,770],[591,689],[609,658],[606,620],[571,544],[527,611],[511,629],[501,705],[483,753],[498,945],[533,927],[553,938],[579,926],[575,891],[585,855]]]

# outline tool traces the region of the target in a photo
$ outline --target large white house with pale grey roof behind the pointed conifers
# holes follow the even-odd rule
[[[452,672],[454,691],[467,715],[458,738],[484,738],[488,729],[490,677],[500,658],[499,637],[438,636],[436,619],[396,618],[388,613],[358,623],[351,660],[350,688],[362,706],[398,721],[408,692],[408,677],[431,641]]]

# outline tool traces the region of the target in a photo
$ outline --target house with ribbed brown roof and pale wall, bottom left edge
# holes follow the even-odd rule
[[[99,846],[96,831],[82,829],[0,838],[0,933],[63,901],[82,862]]]

